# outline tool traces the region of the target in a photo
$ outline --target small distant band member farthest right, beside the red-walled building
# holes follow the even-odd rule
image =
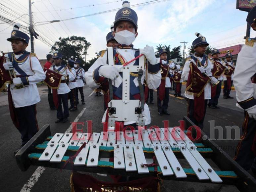
[[[230,96],[230,90],[233,84],[233,75],[234,75],[233,72],[234,72],[235,66],[234,66],[234,62],[232,61],[232,54],[229,51],[226,54],[226,58],[223,65],[227,67],[223,77],[223,80],[224,80],[223,98],[233,99],[233,97]]]

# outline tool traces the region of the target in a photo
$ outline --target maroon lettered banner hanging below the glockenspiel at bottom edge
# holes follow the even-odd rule
[[[157,177],[145,177],[127,182],[104,182],[94,177],[82,174],[72,173],[70,176],[71,192],[96,192],[96,191],[152,191],[160,192],[160,180]]]

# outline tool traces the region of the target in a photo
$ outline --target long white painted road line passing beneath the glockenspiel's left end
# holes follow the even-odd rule
[[[77,122],[79,118],[83,115],[86,108],[83,108],[82,111],[77,115],[74,122]],[[69,128],[65,131],[65,133],[70,133],[72,130],[72,124],[69,126]],[[44,167],[38,167],[35,169],[34,173],[31,175],[31,177],[27,180],[27,183],[23,185],[21,192],[29,192],[31,191],[32,187],[35,185],[35,183],[38,181],[41,174],[43,174],[45,168]]]

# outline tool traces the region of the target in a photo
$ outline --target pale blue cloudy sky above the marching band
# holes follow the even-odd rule
[[[121,0],[34,1],[32,4],[34,23],[69,19],[122,7]],[[148,1],[150,0],[130,0],[129,2],[134,5]],[[28,0],[0,0],[0,3],[15,10],[13,15],[19,16],[19,19],[23,14],[28,14]],[[183,50],[183,44],[180,42],[188,42],[188,47],[196,38],[195,32],[205,36],[208,43],[215,48],[243,44],[247,12],[239,11],[235,7],[236,0],[170,0],[134,7],[132,9],[138,15],[138,36],[134,41],[134,47],[143,48],[148,44],[156,48],[158,44],[166,44],[171,45],[172,48],[182,45]],[[88,49],[89,55],[86,56],[88,61],[96,56],[96,51],[106,48],[106,34],[110,31],[116,12],[45,24],[35,27],[35,30],[51,44],[60,36],[86,37],[91,43]],[[11,20],[16,19],[3,12],[0,12],[0,15]],[[22,20],[29,23],[26,15]],[[27,26],[23,21],[20,21],[21,24]],[[12,31],[12,26],[8,26],[8,24],[0,24],[0,45],[1,51],[4,52],[12,51],[10,42],[6,41]],[[251,37],[255,35],[255,32],[251,32]],[[50,51],[48,45],[37,39],[35,39],[34,49],[39,59],[45,59]],[[30,45],[27,51],[30,51]]]

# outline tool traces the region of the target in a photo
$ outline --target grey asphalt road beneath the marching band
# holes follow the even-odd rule
[[[182,90],[184,86],[182,87]],[[93,132],[100,132],[102,130],[101,117],[104,113],[103,111],[103,97],[94,97],[91,94],[92,90],[88,87],[84,87],[85,94],[85,105],[79,104],[78,111],[70,113],[70,122],[55,124],[56,111],[51,111],[48,107],[47,101],[47,87],[40,86],[39,92],[41,96],[41,102],[37,104],[37,119],[39,127],[44,124],[50,124],[52,134],[56,132],[65,132],[70,127],[70,122],[74,121],[81,110],[86,108],[78,121],[92,120],[93,122]],[[182,91],[183,92],[183,91]],[[154,92],[154,105],[149,104],[151,112],[151,125],[157,125],[163,127],[163,120],[169,120],[169,126],[179,125],[178,120],[182,120],[183,116],[186,115],[187,104],[185,99],[175,98],[173,96],[173,91],[170,92],[170,102],[169,111],[170,116],[159,116],[157,114],[156,107],[156,92]],[[235,95],[235,91],[231,91],[231,95]],[[224,100],[220,98],[221,109],[207,109],[207,114],[205,117],[204,132],[210,135],[210,120],[215,120],[215,126],[219,125],[223,127],[224,138],[226,138],[227,129],[225,126],[236,125],[241,127],[243,121],[243,112],[235,107],[235,99]],[[70,171],[46,168],[42,174],[38,172],[35,174],[34,171],[37,167],[31,166],[26,172],[21,172],[15,162],[13,152],[20,146],[21,139],[20,133],[14,127],[7,103],[7,95],[1,93],[0,95],[0,140],[1,140],[1,156],[0,156],[0,191],[10,191],[17,192],[21,191],[70,191],[69,177]],[[86,127],[85,130],[87,131]],[[217,131],[216,131],[217,133]],[[210,135],[212,136],[212,135]],[[234,133],[232,133],[232,138],[234,138]],[[215,138],[217,138],[216,136]],[[214,138],[214,137],[213,137]],[[223,148],[231,157],[234,156],[235,146],[238,141],[234,140],[221,140],[216,141],[216,143]],[[31,175],[34,176],[30,182]],[[95,174],[93,174],[95,176]],[[97,176],[98,179],[110,181],[107,177]],[[26,184],[26,185],[25,185]],[[25,186],[25,187],[24,187]],[[33,187],[31,187],[33,186]],[[165,181],[165,191],[170,191],[175,189],[175,191],[236,191],[233,187],[223,186],[217,184],[196,184],[196,183],[184,183],[180,181]]]

